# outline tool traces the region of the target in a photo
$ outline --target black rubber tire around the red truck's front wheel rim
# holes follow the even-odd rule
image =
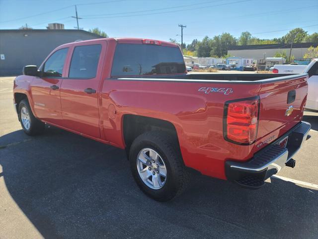
[[[21,119],[21,111],[22,109],[25,108],[28,112],[29,118],[30,118],[30,126],[29,127],[25,127],[25,125],[22,122]],[[19,107],[18,107],[18,117],[22,126],[23,131],[27,134],[27,135],[37,135],[37,134],[41,134],[44,131],[45,128],[45,123],[43,123],[42,121],[40,121],[39,119],[36,119],[31,111],[29,102],[27,100],[22,100],[19,103]]]

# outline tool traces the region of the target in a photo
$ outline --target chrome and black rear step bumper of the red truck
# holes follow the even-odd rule
[[[228,180],[245,188],[258,189],[265,184],[267,178],[278,173],[285,165],[295,166],[292,157],[307,139],[310,128],[310,123],[302,121],[275,142],[257,152],[249,161],[227,161],[225,172]],[[289,136],[286,148],[275,144],[286,136]]]

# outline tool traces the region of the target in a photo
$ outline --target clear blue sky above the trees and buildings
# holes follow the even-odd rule
[[[64,23],[74,29],[75,7],[79,27],[98,27],[111,37],[174,38],[184,42],[230,32],[249,31],[259,38],[281,37],[289,29],[318,32],[318,0],[0,0],[0,29],[27,23],[45,29]]]

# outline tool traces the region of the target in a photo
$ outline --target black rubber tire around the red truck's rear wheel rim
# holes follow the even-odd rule
[[[165,164],[166,181],[160,189],[152,189],[147,186],[139,176],[137,157],[144,148],[151,148],[158,152]],[[164,202],[179,196],[189,182],[190,173],[184,166],[178,143],[168,133],[149,131],[138,136],[131,145],[129,161],[133,177],[139,188],[157,201]]]

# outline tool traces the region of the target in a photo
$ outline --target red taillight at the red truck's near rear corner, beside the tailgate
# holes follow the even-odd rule
[[[249,145],[255,142],[258,127],[259,98],[225,103],[223,134],[227,141]]]

